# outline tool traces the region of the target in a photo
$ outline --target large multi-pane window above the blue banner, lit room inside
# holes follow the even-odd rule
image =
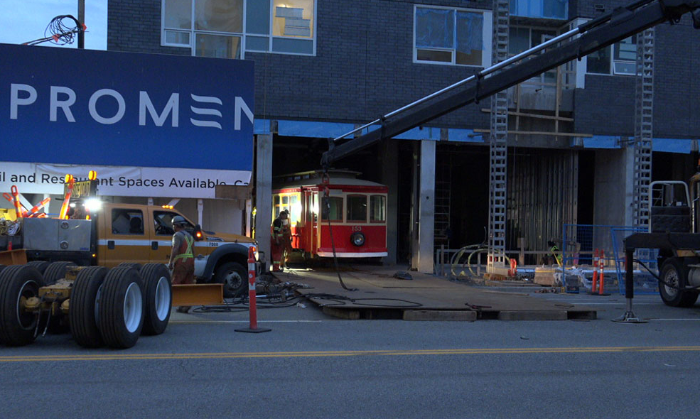
[[[317,0],[163,0],[161,44],[192,55],[316,54]]]

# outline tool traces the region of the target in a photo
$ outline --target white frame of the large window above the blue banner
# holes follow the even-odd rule
[[[274,35],[274,0],[268,0],[269,1],[269,16],[267,18],[269,19],[269,33],[248,33],[247,32],[247,6],[248,6],[248,1],[256,1],[256,0],[242,0],[243,2],[243,10],[242,10],[242,31],[241,32],[220,32],[220,31],[202,31],[195,29],[195,2],[198,0],[191,0],[190,4],[190,28],[189,29],[183,29],[183,28],[166,28],[165,24],[165,16],[166,16],[166,2],[168,0],[163,0],[161,1],[161,46],[163,47],[173,47],[173,48],[190,48],[190,55],[193,57],[196,57],[196,51],[197,51],[197,45],[195,42],[195,39],[197,37],[198,33],[201,34],[209,34],[209,35],[218,35],[218,36],[232,36],[232,37],[239,37],[240,40],[240,48],[241,48],[241,56],[240,60],[245,59],[246,53],[273,53],[273,54],[281,54],[281,55],[306,55],[306,56],[316,56],[316,34],[318,33],[318,0],[311,0],[313,1],[313,17],[312,17],[312,23],[313,25],[311,26],[311,37],[309,38],[300,38],[298,36],[275,36]],[[167,42],[167,36],[166,36],[166,31],[171,31],[171,32],[181,32],[181,33],[188,33],[190,37],[190,43],[188,45],[185,45],[183,43],[168,43]],[[247,37],[251,36],[253,38],[267,38],[267,49],[266,50],[247,50]],[[311,43],[311,53],[290,53],[287,51],[278,51],[278,50],[273,50],[274,47],[274,39],[289,39],[289,40],[306,40],[309,43]]]

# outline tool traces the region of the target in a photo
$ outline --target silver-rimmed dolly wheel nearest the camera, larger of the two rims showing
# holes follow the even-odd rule
[[[112,268],[99,298],[99,333],[107,346],[126,349],[139,340],[144,327],[144,281],[134,268]]]

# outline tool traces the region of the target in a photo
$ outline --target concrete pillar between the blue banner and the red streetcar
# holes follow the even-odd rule
[[[259,134],[255,160],[255,241],[265,260],[271,258],[270,225],[272,224],[272,134]],[[267,271],[267,268],[264,268]]]

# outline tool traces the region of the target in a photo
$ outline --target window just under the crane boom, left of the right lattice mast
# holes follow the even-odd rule
[[[637,36],[588,54],[586,72],[605,75],[635,75],[637,72]]]

